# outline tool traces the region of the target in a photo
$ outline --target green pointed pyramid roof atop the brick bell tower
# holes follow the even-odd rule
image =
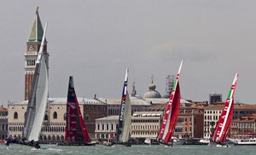
[[[43,34],[44,34],[44,29],[38,14],[38,7],[37,7],[35,20],[34,20],[28,41],[42,41]]]

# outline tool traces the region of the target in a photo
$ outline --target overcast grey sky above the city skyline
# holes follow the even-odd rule
[[[256,1],[102,0],[2,1],[0,104],[24,100],[24,65],[36,7],[49,52],[49,97],[66,97],[73,75],[77,95],[120,98],[125,68],[144,95],[154,75],[161,95],[180,61],[181,95],[209,100],[228,95],[240,73],[235,100],[256,103]]]

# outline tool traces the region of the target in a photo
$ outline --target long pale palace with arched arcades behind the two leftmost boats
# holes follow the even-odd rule
[[[94,137],[95,119],[108,116],[107,105],[99,100],[78,98],[81,114],[90,137]],[[63,141],[66,126],[67,98],[49,98],[39,140],[42,142]],[[9,133],[20,138],[24,128],[27,100],[9,102]]]

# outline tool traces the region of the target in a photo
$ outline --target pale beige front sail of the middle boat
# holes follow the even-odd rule
[[[121,135],[121,141],[127,142],[130,139],[130,129],[131,129],[131,100],[128,92],[126,91],[126,100],[125,100],[125,121],[123,133]]]

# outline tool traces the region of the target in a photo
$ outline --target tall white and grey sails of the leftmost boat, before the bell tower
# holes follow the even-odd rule
[[[38,141],[47,105],[48,71],[43,54],[46,29],[47,23],[45,24],[44,36],[38,52],[31,94],[26,109],[24,130],[22,133],[23,139],[28,141]]]

